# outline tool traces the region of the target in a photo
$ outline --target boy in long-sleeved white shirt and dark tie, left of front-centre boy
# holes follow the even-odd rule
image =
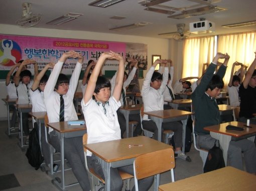
[[[67,58],[78,58],[70,80],[60,73]],[[77,120],[73,97],[83,64],[83,56],[75,51],[63,53],[55,64],[44,89],[44,102],[49,122]],[[64,108],[63,108],[64,107]],[[58,132],[49,128],[50,143],[60,151]],[[83,190],[90,190],[90,183],[85,169],[82,136],[64,138],[64,156],[69,161],[73,173]]]

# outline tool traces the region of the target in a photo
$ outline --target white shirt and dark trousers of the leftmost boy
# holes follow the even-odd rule
[[[6,86],[6,88],[7,88],[8,97],[10,99],[18,98],[17,89],[16,89],[15,83],[13,81],[10,82]],[[17,121],[17,108],[16,108],[16,106],[11,105],[10,109],[13,110],[13,115],[12,115],[12,120],[11,120],[11,127],[15,127],[15,123]]]

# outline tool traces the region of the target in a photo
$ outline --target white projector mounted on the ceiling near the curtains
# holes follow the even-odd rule
[[[201,20],[189,23],[189,31],[195,34],[215,32],[215,23],[209,20]]]

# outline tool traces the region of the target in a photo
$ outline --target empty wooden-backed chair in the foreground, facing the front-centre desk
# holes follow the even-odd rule
[[[139,190],[138,179],[157,175],[167,170],[171,170],[172,182],[174,182],[174,167],[175,157],[171,147],[137,156],[134,160],[135,190]],[[159,185],[155,184],[155,186]]]

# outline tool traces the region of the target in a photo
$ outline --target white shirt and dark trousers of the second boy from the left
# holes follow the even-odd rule
[[[18,104],[29,104],[31,103],[31,96],[29,90],[31,89],[34,81],[30,80],[30,82],[26,85],[22,81],[18,84],[17,92],[18,92]],[[29,135],[29,113],[22,112],[22,126],[26,136]]]

